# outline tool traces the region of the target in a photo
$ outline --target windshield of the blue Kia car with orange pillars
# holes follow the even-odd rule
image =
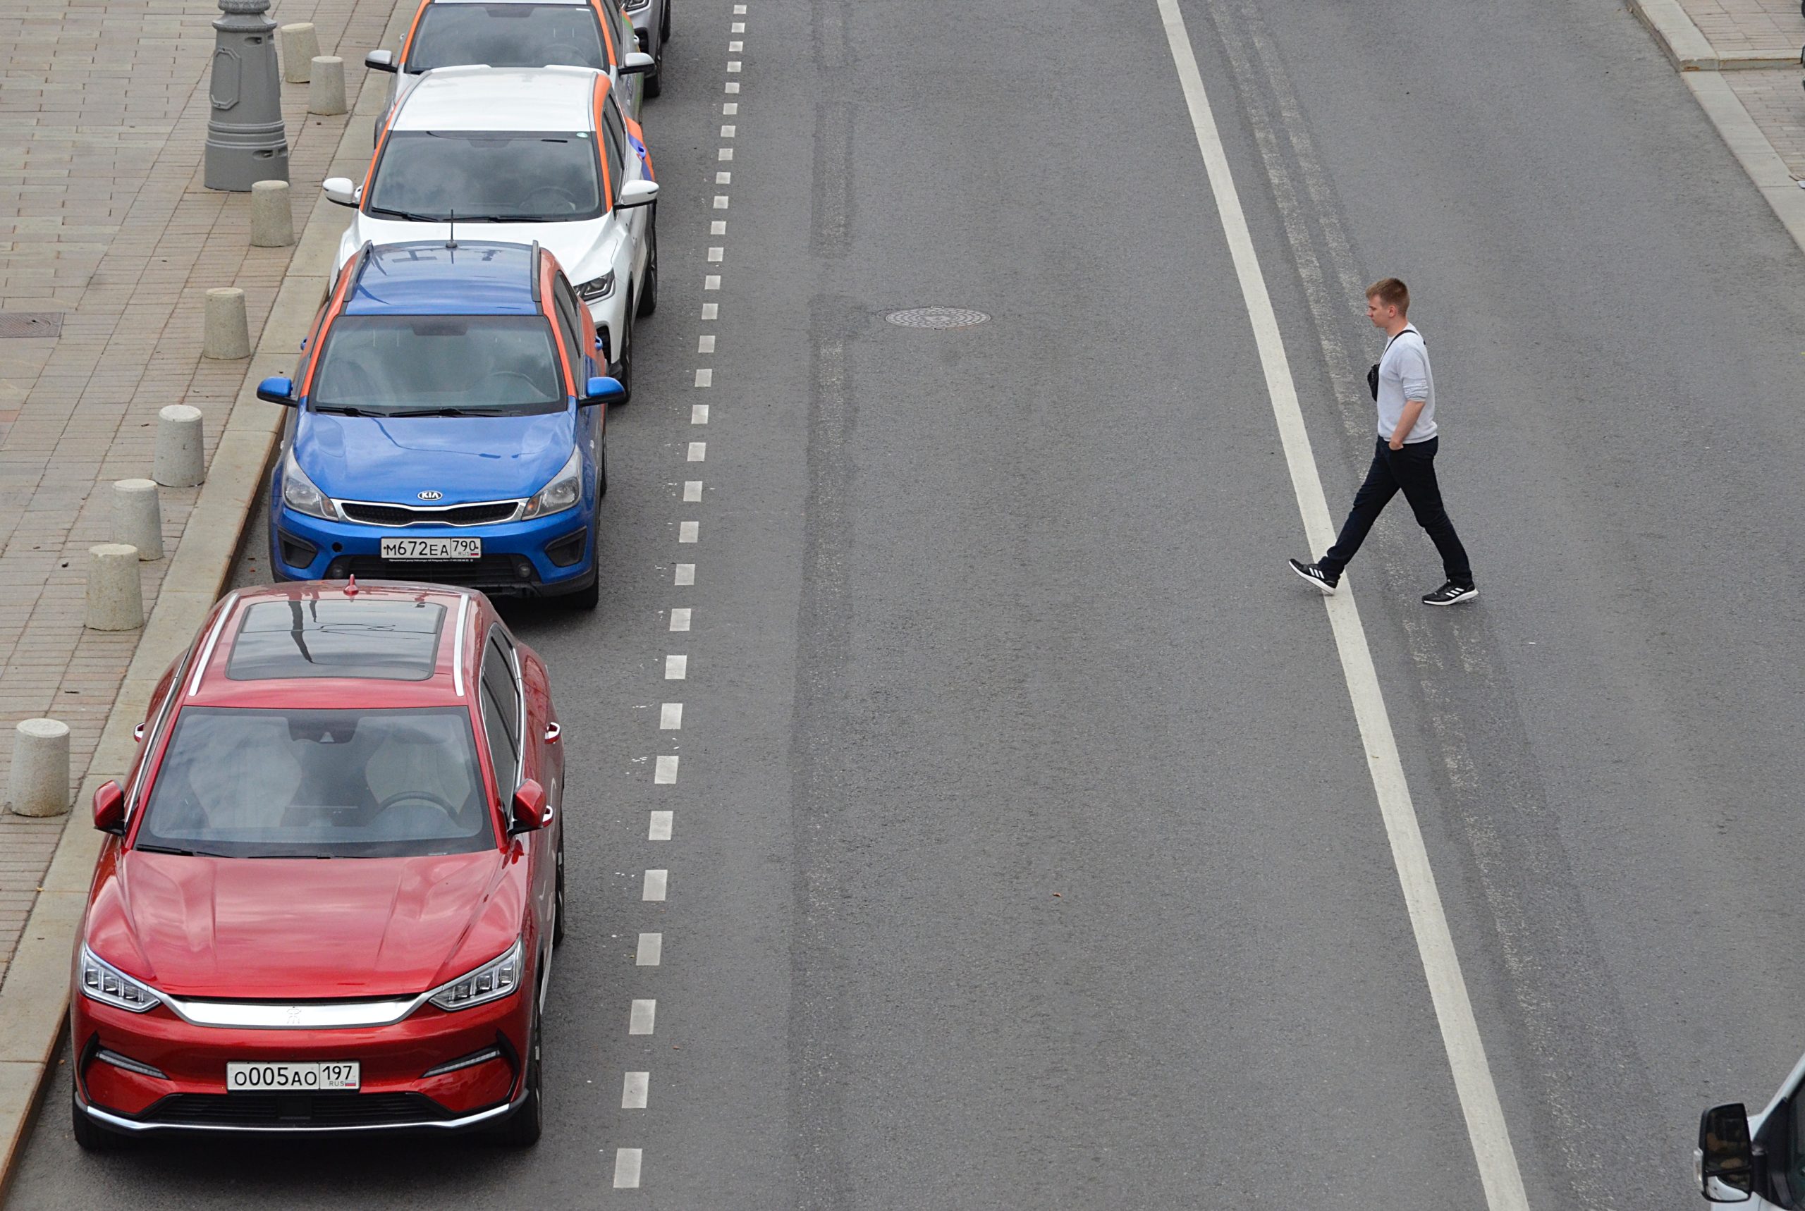
[[[318,411],[525,415],[565,406],[545,316],[339,316],[309,392]]]

